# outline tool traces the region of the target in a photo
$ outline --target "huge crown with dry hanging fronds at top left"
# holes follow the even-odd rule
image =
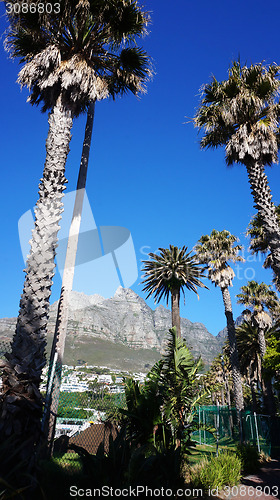
[[[45,111],[62,96],[79,114],[90,100],[144,90],[151,68],[136,39],[148,21],[136,0],[62,1],[46,19],[11,16],[6,45],[25,63],[18,81],[32,104]]]

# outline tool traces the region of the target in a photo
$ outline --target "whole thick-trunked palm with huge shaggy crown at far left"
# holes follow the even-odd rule
[[[135,43],[148,16],[136,0],[68,0],[59,5],[59,13],[48,16],[37,11],[10,15],[6,39],[12,57],[24,63],[18,81],[30,89],[29,101],[51,111],[35,229],[1,397],[0,430],[30,437],[31,447],[40,434],[38,388],[73,118],[89,102],[139,90],[149,73],[148,57]]]

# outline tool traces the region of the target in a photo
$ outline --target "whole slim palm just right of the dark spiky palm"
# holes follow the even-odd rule
[[[235,245],[236,241],[236,236],[232,235],[229,231],[225,229],[223,231],[216,231],[213,229],[210,236],[207,234],[198,240],[195,250],[199,261],[207,265],[208,278],[215,286],[220,287],[222,292],[230,345],[234,401],[236,408],[242,410],[244,408],[243,390],[229,293],[229,286],[232,286],[235,274],[228,262],[241,262],[244,260],[238,255],[242,247],[241,245]]]

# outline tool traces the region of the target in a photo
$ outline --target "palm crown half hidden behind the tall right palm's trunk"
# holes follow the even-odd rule
[[[280,205],[277,205],[275,207],[275,210],[277,213],[278,224],[280,225]],[[251,238],[250,250],[252,254],[253,255],[258,254],[260,252],[261,254],[266,255],[263,267],[265,269],[271,268],[272,256],[271,252],[269,251],[268,240],[259,213],[257,213],[256,215],[254,215],[254,217],[252,217],[249,227],[247,229],[247,235],[250,236]],[[279,285],[277,283],[277,276],[275,274],[273,281],[276,287],[279,288]]]

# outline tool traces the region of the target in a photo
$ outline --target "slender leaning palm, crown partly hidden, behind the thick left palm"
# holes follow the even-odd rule
[[[142,33],[144,34],[144,25],[142,26]],[[127,40],[126,40],[127,43]],[[139,78],[138,72],[141,69],[141,64],[139,60],[131,61],[129,72],[127,72],[125,82],[120,80],[118,75],[111,78],[111,85],[108,88],[108,93],[112,93],[112,97],[116,94],[123,94],[125,92],[132,92],[133,94],[138,94],[143,91],[143,84],[145,80],[151,75],[151,71],[147,66],[142,66],[141,78]],[[127,84],[129,83],[129,86]],[[58,303],[58,312],[55,333],[53,338],[51,356],[50,356],[50,370],[48,376],[48,390],[47,390],[47,400],[43,415],[43,429],[48,432],[48,440],[50,444],[50,449],[52,446],[55,425],[59,401],[59,390],[61,384],[61,370],[63,363],[64,347],[66,341],[67,324],[68,324],[68,309],[69,309],[69,298],[70,292],[72,290],[75,261],[78,248],[78,238],[79,230],[82,217],[83,209],[83,199],[86,188],[87,179],[87,169],[93,129],[93,120],[95,113],[95,102],[90,102],[87,112],[87,123],[85,129],[85,137],[82,151],[82,158],[80,164],[80,171],[77,181],[76,197],[74,203],[74,210],[72,215],[72,221],[69,230],[69,237],[67,243],[67,251],[65,257],[64,272],[62,278],[62,287]],[[49,427],[47,431],[47,427]]]

